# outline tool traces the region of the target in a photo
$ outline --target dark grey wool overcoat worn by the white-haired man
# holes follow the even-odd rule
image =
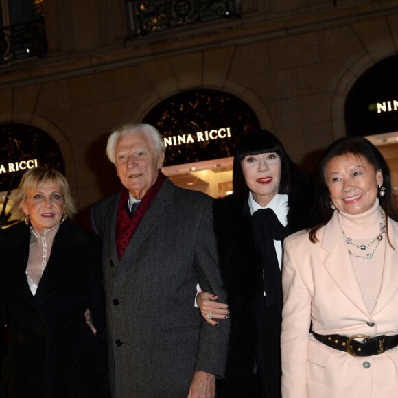
[[[97,202],[110,385],[115,398],[187,397],[195,371],[222,377],[229,321],[202,320],[196,283],[226,302],[212,226],[212,198],[166,178],[119,261],[115,224],[120,194]]]

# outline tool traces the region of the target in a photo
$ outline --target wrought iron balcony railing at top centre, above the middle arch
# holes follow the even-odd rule
[[[239,3],[239,0],[126,0],[131,27],[128,38],[240,16]]]

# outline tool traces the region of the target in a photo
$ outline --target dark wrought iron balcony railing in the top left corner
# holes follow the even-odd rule
[[[0,65],[47,54],[44,19],[0,29]]]

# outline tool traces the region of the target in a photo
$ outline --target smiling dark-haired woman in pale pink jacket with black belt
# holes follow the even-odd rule
[[[282,395],[396,398],[398,215],[388,166],[366,139],[344,138],[316,176],[324,222],[284,244]]]

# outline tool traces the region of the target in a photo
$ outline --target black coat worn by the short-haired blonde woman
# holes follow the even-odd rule
[[[23,223],[0,231],[7,396],[108,397],[100,239],[61,224],[35,296],[25,274],[29,242]],[[97,336],[86,325],[86,309]]]

